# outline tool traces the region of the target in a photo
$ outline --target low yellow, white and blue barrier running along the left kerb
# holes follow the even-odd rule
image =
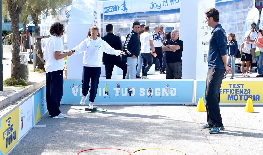
[[[0,117],[0,155],[9,154],[47,112],[45,95],[43,86]]]

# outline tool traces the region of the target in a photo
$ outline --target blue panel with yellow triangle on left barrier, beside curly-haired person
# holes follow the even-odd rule
[[[46,86],[43,86],[34,94],[34,111],[35,111],[35,122],[41,118],[47,111],[46,105]]]

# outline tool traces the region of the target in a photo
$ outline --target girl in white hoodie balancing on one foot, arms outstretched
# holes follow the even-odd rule
[[[102,40],[100,37],[99,28],[96,25],[92,25],[90,27],[87,39],[82,41],[72,50],[75,50],[74,54],[80,54],[84,52],[83,71],[81,80],[83,97],[80,101],[80,104],[85,104],[89,90],[89,83],[91,80],[92,88],[89,94],[90,103],[88,109],[93,109],[93,102],[97,94],[99,79],[101,75],[102,53],[105,52],[107,54],[114,55],[125,55],[125,53],[120,50],[115,50],[104,40]]]

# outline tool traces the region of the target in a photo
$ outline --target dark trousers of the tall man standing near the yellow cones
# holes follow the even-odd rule
[[[205,87],[207,123],[211,127],[224,127],[220,114],[220,87],[225,70],[208,68]]]

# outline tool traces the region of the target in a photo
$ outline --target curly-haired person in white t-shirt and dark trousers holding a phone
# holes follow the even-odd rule
[[[63,95],[63,67],[64,57],[73,53],[64,52],[64,45],[58,38],[64,33],[64,25],[54,23],[50,27],[50,36],[45,42],[46,56],[46,102],[49,116],[52,118],[64,118],[59,110],[60,101]]]

